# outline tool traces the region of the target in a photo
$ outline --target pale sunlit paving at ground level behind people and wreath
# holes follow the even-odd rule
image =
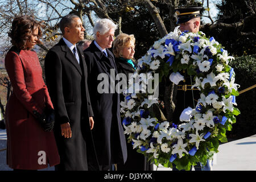
[[[2,148],[6,148],[6,130],[0,129],[0,150]],[[256,135],[221,144],[218,151],[213,159],[213,171],[256,171]],[[6,165],[6,151],[0,151],[0,171],[10,170],[12,169]],[[54,168],[43,170],[52,171]],[[171,170],[171,168],[157,168],[157,171]]]

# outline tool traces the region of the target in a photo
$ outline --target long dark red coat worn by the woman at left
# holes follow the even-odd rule
[[[53,108],[36,52],[12,47],[5,67],[13,86],[6,105],[7,164],[14,169],[59,164],[53,132],[44,131],[32,114],[33,110],[42,113],[45,107]]]

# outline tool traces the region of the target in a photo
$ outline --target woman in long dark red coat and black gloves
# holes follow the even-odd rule
[[[30,16],[19,16],[9,33],[13,47],[7,52],[5,67],[13,93],[6,105],[6,131],[7,164],[13,169],[36,170],[60,162],[51,131],[52,102],[38,56],[31,50],[41,43],[40,27]]]

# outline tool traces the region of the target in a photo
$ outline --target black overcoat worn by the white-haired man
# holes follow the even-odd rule
[[[98,162],[102,166],[125,163],[127,159],[126,140],[120,119],[119,94],[99,93],[97,90],[98,84],[102,81],[97,80],[100,73],[106,73],[110,78],[112,69],[115,75],[117,74],[114,55],[108,49],[106,51],[108,57],[95,46],[94,41],[84,51],[88,65],[90,101],[94,113],[92,134]]]

